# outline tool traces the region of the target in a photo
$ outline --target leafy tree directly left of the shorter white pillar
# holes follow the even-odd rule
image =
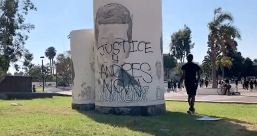
[[[57,72],[63,77],[65,84],[71,83],[71,57],[69,51],[66,54],[57,55]]]

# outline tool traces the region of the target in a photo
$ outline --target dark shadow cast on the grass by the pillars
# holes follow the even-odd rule
[[[155,116],[124,116],[111,114],[98,114],[95,111],[80,113],[96,122],[111,125],[113,127],[126,127],[133,131],[149,133],[152,135],[197,135],[197,136],[220,136],[220,135],[257,135],[257,131],[249,131],[245,126],[234,124],[225,119],[221,121],[197,121],[200,116],[188,115],[181,112],[166,111],[162,115]],[[239,123],[246,123],[233,120]],[[163,132],[160,129],[169,129]],[[121,132],[122,133],[122,132]]]

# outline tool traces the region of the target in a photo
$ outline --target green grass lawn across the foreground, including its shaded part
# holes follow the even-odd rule
[[[23,106],[10,106],[20,103]],[[196,103],[199,113],[224,117],[196,121],[186,102],[166,102],[166,113],[150,117],[80,113],[71,109],[71,97],[0,100],[1,136],[256,136],[257,105]],[[230,123],[247,124],[246,127]],[[169,129],[162,132],[160,129]]]

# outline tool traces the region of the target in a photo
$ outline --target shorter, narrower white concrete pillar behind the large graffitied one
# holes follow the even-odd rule
[[[72,109],[95,109],[93,33],[93,29],[71,32]]]

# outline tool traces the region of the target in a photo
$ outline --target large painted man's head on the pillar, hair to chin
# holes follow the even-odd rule
[[[95,17],[95,40],[99,68],[101,69],[101,65],[121,66],[129,57],[131,49],[131,44],[128,42],[132,41],[130,11],[118,3],[100,7]],[[114,74],[119,70],[117,67],[113,69]]]

